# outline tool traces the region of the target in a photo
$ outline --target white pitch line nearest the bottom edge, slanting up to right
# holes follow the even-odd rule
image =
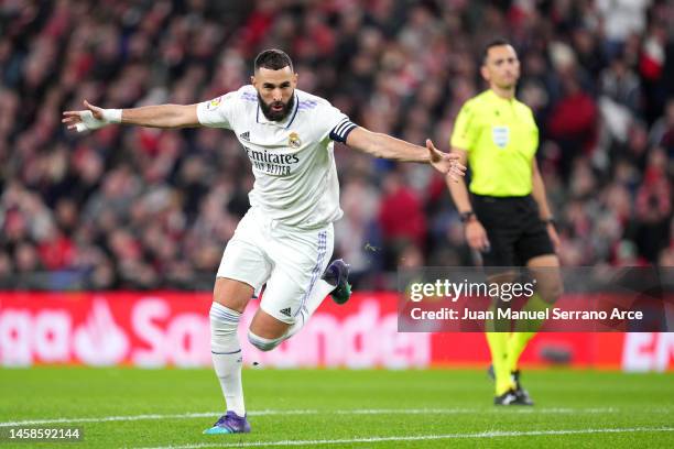
[[[428,441],[460,438],[499,438],[499,437],[536,437],[545,435],[587,435],[587,434],[634,434],[641,431],[674,431],[674,427],[629,427],[629,428],[599,428],[599,429],[568,429],[568,430],[528,430],[504,431],[490,430],[479,434],[447,434],[447,435],[417,435],[402,437],[368,437],[323,440],[281,440],[281,441],[250,441],[250,442],[202,442],[185,446],[159,446],[139,449],[199,449],[199,448],[256,448],[270,446],[318,446],[318,445],[348,445],[359,442],[388,442],[388,441]]]

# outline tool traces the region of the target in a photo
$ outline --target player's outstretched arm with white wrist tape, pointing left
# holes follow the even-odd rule
[[[65,111],[63,123],[69,130],[97,130],[110,123],[135,124],[150,128],[199,127],[197,105],[159,105],[132,109],[102,109],[84,101],[87,109]]]

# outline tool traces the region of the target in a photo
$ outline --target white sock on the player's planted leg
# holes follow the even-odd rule
[[[241,383],[241,346],[237,328],[241,314],[213,303],[210,306],[210,352],[213,366],[220,381],[227,409],[239,416],[246,415],[243,385]]]

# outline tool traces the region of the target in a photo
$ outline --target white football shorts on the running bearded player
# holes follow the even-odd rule
[[[289,228],[251,207],[227,243],[217,277],[243,282],[260,307],[292,325],[333,256],[333,223],[315,230]]]

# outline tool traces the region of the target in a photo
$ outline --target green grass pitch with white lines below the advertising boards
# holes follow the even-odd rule
[[[210,370],[2,369],[4,431],[39,420],[80,426],[84,441],[0,448],[674,447],[672,374],[533,370],[523,381],[535,407],[494,408],[481,370],[247,369],[252,432],[207,436],[224,408]]]

